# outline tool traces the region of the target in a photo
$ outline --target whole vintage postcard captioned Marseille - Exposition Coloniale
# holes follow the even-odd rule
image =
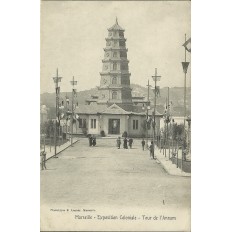
[[[41,1],[41,231],[191,230],[191,2]]]

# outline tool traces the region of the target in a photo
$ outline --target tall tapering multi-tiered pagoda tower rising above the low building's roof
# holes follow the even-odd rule
[[[127,59],[126,39],[124,29],[116,23],[108,29],[98,104],[119,105],[125,110],[132,110],[132,96],[130,88],[130,73]]]

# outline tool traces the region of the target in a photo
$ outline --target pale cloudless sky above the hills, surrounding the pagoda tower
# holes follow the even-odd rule
[[[40,92],[54,92],[58,68],[61,92],[70,92],[73,76],[77,91],[100,84],[107,29],[125,29],[131,83],[147,85],[157,68],[159,86],[184,85],[182,44],[191,37],[188,1],[42,1]],[[187,52],[187,61],[190,53]],[[190,86],[191,63],[187,73]]]

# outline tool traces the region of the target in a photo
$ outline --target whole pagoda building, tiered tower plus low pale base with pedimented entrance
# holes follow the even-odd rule
[[[145,137],[146,121],[153,110],[145,112],[142,107],[147,102],[142,96],[132,97],[129,60],[127,59],[124,29],[115,24],[108,29],[100,87],[96,95],[86,99],[87,105],[79,105],[73,131],[77,134],[122,135]],[[159,134],[161,114],[156,112],[156,134]],[[152,127],[148,127],[152,137]]]

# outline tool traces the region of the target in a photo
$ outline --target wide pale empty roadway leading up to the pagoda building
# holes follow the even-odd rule
[[[47,161],[41,171],[41,204],[77,207],[190,207],[190,178],[171,176],[142,151],[117,149],[115,139],[98,139],[96,147],[80,139]]]

